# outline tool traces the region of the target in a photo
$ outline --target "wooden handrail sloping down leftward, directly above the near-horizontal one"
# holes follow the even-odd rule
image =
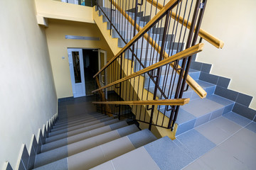
[[[134,77],[137,77],[141,74],[144,74],[146,72],[149,72],[151,71],[152,69],[156,69],[158,67],[161,67],[161,66],[164,66],[165,64],[168,64],[170,62],[174,62],[175,60],[181,60],[185,57],[188,57],[188,56],[191,56],[191,55],[194,55],[196,54],[197,52],[201,52],[203,50],[203,46],[204,44],[203,43],[199,43],[197,45],[194,45],[193,47],[190,47],[186,50],[183,50],[181,52],[178,52],[177,54],[171,56],[171,57],[168,57],[168,58],[165,58],[164,60],[161,60],[160,62],[156,62],[155,64],[152,64],[151,66],[149,67],[146,67],[144,69],[141,69],[139,70],[138,72],[134,72],[133,74],[130,74],[129,76],[126,76],[122,79],[119,79],[117,81],[114,81],[110,84],[107,84],[106,86],[102,86],[101,88],[99,89],[96,89],[94,91],[92,91],[92,93],[95,93],[96,91],[100,91],[102,89],[106,89],[107,87],[110,87],[110,86],[114,86],[115,84],[119,84],[123,81],[126,81],[128,79],[132,79]]]

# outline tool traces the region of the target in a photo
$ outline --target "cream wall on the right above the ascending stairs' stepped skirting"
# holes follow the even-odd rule
[[[197,58],[213,64],[211,74],[231,79],[228,89],[253,96],[256,109],[256,1],[208,1],[202,28],[225,42],[218,50],[208,42]]]

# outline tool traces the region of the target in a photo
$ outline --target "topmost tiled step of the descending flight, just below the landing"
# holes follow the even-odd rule
[[[37,169],[50,169],[52,167],[59,167],[59,169],[90,169],[154,140],[156,140],[156,137],[149,130],[141,130],[103,145],[87,149],[79,154],[40,166]]]

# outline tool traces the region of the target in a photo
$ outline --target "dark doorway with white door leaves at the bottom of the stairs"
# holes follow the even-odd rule
[[[107,63],[107,52],[98,49],[68,48],[73,96],[90,96],[96,89],[93,76]],[[105,75],[100,75],[102,79]],[[101,80],[102,80],[101,79]],[[104,86],[105,81],[100,81]]]

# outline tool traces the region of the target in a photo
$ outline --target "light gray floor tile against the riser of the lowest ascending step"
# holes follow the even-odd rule
[[[222,116],[212,120],[204,125],[196,128],[198,132],[208,138],[215,145],[219,145],[228,137],[232,136],[235,132],[242,127],[232,121],[223,118]]]

